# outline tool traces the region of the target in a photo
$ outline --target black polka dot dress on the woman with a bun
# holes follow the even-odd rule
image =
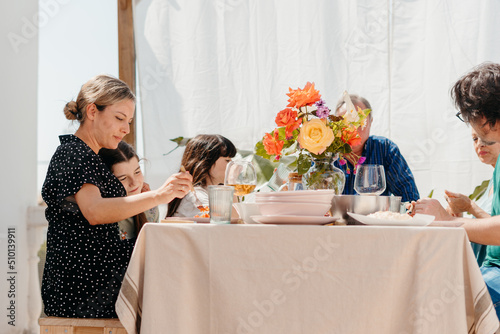
[[[60,136],[42,189],[47,258],[42,299],[49,316],[116,318],[115,302],[134,240],[121,240],[118,224],[90,225],[74,200],[85,183],[102,197],[126,191],[100,157],[74,135]]]

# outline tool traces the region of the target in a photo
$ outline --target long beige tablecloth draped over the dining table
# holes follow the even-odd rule
[[[461,228],[146,224],[128,333],[493,333]]]

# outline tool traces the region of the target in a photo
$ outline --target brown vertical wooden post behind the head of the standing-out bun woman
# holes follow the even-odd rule
[[[118,1],[118,64],[119,76],[134,94],[135,87],[135,42],[132,0]],[[130,125],[130,133],[123,140],[136,147],[135,117]]]

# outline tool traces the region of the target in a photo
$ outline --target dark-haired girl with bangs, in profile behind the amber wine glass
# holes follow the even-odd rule
[[[193,176],[196,196],[208,206],[210,185],[224,184],[226,166],[236,155],[233,143],[221,135],[198,135],[191,139],[182,156],[181,166]],[[192,193],[173,199],[167,217],[194,217],[200,214]]]

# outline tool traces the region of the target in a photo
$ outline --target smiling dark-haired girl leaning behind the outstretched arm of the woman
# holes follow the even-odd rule
[[[134,148],[124,141],[118,144],[115,150],[101,148],[99,156],[109,170],[122,183],[127,196],[149,191],[149,185],[144,182],[144,175],[139,166],[139,157]],[[146,222],[158,222],[158,207],[153,207],[133,217],[118,222],[120,237],[132,239],[137,237]]]

